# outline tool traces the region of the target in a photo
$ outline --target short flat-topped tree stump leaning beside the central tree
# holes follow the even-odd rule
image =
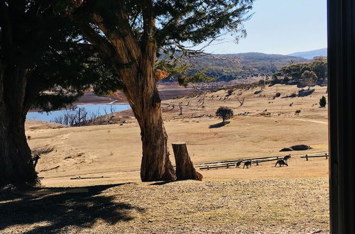
[[[186,143],[173,143],[173,151],[176,162],[176,177],[178,180],[195,179],[202,180],[202,174],[196,172],[187,152]]]

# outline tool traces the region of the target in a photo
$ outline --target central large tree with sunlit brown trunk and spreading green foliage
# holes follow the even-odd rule
[[[143,182],[174,180],[156,86],[161,52],[195,55],[224,33],[245,35],[253,0],[68,0],[70,18],[84,38],[116,67],[141,128]],[[190,48],[190,49],[189,49]]]

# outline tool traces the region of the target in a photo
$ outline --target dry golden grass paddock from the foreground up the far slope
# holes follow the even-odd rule
[[[293,98],[282,97],[300,89],[278,84],[259,94],[221,90],[165,100],[169,144],[185,141],[195,164],[285,155],[279,150],[298,144],[312,149],[291,155],[327,152],[327,108],[318,107],[326,87],[314,88],[309,96]],[[273,99],[277,92],[280,97]],[[244,97],[243,106],[237,97]],[[214,117],[219,106],[232,108],[234,118],[214,128],[221,122]],[[42,188],[18,192],[24,196],[1,193],[0,233],[329,233],[324,158],[293,157],[289,167],[266,162],[204,170],[203,182],[141,183],[136,120],[125,111],[102,123],[111,124],[26,123],[31,148],[53,151],[41,155],[36,167]],[[87,190],[65,189],[83,186]]]

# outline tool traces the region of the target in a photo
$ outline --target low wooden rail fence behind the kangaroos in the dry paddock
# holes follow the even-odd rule
[[[327,159],[329,157],[329,154],[327,152],[321,152],[321,153],[313,153],[307,155],[291,155],[291,156],[305,158],[308,161],[308,158],[310,157],[325,157]],[[229,167],[235,167],[236,163],[240,161],[241,162],[251,161],[252,164],[259,165],[262,162],[276,161],[279,159],[283,159],[283,157],[284,156],[278,155],[278,156],[269,156],[269,157],[254,157],[251,159],[226,160],[220,162],[204,162],[195,165],[195,167],[199,167],[200,169],[218,169],[222,167],[229,168]]]

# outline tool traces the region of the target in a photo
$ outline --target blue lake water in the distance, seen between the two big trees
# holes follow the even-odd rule
[[[85,108],[89,116],[91,113],[95,113],[97,116],[104,116],[113,112],[125,111],[131,108],[129,105],[77,105],[78,108]],[[37,121],[52,122],[54,118],[62,116],[64,113],[70,110],[50,111],[50,112],[28,112],[26,118],[35,119]]]

